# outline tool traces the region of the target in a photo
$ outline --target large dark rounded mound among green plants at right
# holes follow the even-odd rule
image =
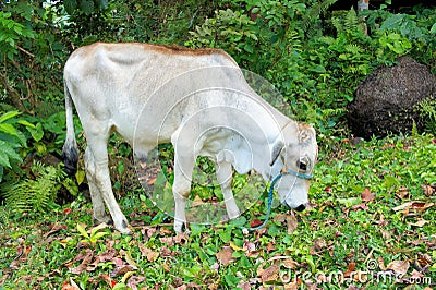
[[[410,57],[398,64],[383,67],[368,75],[348,106],[348,123],[355,136],[366,140],[388,134],[408,133],[413,123],[424,121],[416,106],[436,97],[436,76]]]

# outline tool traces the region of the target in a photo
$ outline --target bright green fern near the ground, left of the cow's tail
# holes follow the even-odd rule
[[[22,214],[25,212],[46,213],[55,205],[55,200],[62,184],[65,173],[60,166],[43,166],[34,164],[32,171],[36,180],[26,179],[12,185],[4,194],[7,205],[12,212]]]

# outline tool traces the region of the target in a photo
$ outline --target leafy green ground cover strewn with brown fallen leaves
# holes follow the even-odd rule
[[[150,219],[159,210],[140,191],[120,201],[133,237],[109,227],[86,237],[78,229],[95,225],[84,197],[40,216],[0,207],[0,289],[434,287],[435,136],[325,147],[312,208],[276,207],[267,227],[247,235],[239,227],[262,220],[264,203],[230,223],[192,225],[178,237],[172,220]]]

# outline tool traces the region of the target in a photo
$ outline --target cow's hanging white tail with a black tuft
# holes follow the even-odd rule
[[[66,117],[66,138],[63,144],[62,154],[63,162],[65,165],[65,172],[72,177],[77,170],[78,150],[77,142],[75,140],[74,121],[73,121],[73,100],[66,82],[64,82],[65,90],[65,117]]]

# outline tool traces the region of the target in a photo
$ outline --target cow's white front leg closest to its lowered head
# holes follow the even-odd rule
[[[231,190],[233,177],[231,164],[221,161],[216,164],[216,174],[219,185],[221,185],[222,196],[226,203],[227,216],[230,219],[240,216],[238,205],[234,201],[233,192]]]

